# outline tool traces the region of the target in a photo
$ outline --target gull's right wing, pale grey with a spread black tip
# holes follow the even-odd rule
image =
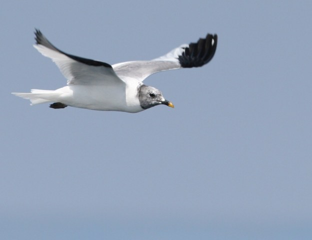
[[[167,54],[149,61],[127,61],[113,64],[112,68],[121,79],[135,78],[143,81],[158,71],[181,67],[198,67],[208,63],[214,55],[217,35],[207,34],[195,43],[183,44]]]

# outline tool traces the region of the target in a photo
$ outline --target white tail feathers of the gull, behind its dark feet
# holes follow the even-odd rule
[[[31,89],[31,93],[12,92],[15,96],[29,99],[31,104],[40,104],[49,101],[57,101],[57,97],[62,94],[54,90]]]

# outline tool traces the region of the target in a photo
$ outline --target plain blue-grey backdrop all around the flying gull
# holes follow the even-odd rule
[[[4,0],[1,239],[311,239],[312,2]],[[154,74],[175,108],[30,106],[65,78],[37,52],[110,64],[207,32],[214,58]]]

